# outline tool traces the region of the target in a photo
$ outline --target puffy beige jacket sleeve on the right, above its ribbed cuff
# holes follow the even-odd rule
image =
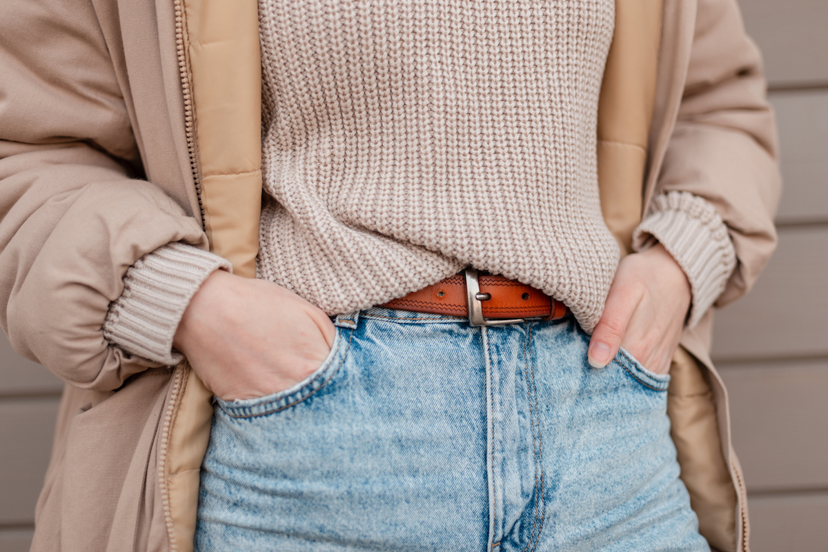
[[[736,264],[716,306],[744,295],[776,247],[781,177],[765,96],[761,55],[735,0],[699,0],[684,95],[654,194],[689,192],[724,222]],[[652,201],[649,214],[668,203]]]

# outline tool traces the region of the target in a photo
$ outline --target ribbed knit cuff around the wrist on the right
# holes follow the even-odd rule
[[[633,250],[661,242],[690,281],[693,294],[687,326],[692,328],[724,291],[736,267],[727,227],[713,205],[689,192],[653,199],[651,214],[633,233]]]

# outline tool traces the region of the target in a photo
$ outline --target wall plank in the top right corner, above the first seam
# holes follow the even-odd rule
[[[739,0],[771,84],[828,80],[826,0]]]

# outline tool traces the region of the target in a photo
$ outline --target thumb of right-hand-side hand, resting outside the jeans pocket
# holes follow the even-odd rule
[[[591,367],[603,368],[618,354],[629,321],[642,296],[643,291],[638,286],[624,286],[618,278],[610,286],[604,313],[590,339],[587,361]]]

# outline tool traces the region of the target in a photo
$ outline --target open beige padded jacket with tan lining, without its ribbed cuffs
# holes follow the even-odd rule
[[[599,104],[604,218],[628,251],[654,194],[710,201],[739,262],[724,305],[752,286],[776,240],[776,138],[758,51],[735,0],[616,8]],[[153,366],[109,345],[101,327],[128,267],[168,242],[209,247],[255,276],[257,2],[11,10],[0,18],[0,321],[18,353],[69,384],[32,550],[192,550],[210,393],[185,363]],[[682,338],[668,411],[702,535],[747,550],[710,322]]]

